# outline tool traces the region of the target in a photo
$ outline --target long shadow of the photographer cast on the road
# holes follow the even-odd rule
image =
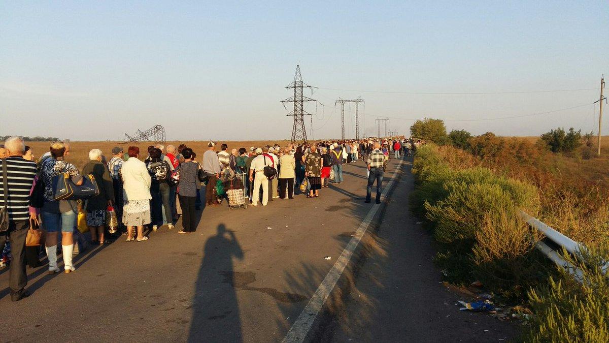
[[[234,272],[233,258],[243,259],[244,252],[234,231],[220,224],[203,248],[188,342],[243,341],[236,289],[247,275]]]

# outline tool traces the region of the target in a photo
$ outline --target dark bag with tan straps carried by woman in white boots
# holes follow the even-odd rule
[[[77,186],[67,171],[68,165],[63,173],[51,178],[51,190],[53,200],[86,200],[99,195],[99,187],[95,177],[91,174],[82,177],[82,184]]]

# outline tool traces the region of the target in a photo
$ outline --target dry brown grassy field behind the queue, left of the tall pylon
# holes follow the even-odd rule
[[[225,142],[217,142],[216,145],[216,151],[220,151],[220,145],[222,143],[227,143],[228,144],[228,150],[231,150],[233,148],[245,148],[247,150],[250,149],[251,146],[255,146],[255,147],[259,147],[259,146],[264,146],[264,145],[273,145],[275,143],[278,143],[280,146],[286,146],[287,143],[289,143],[289,140],[277,140],[277,141],[273,141],[273,142],[267,142],[264,140],[241,140],[241,141],[225,141]],[[191,148],[192,150],[195,151],[195,153],[197,153],[197,156],[202,156],[203,153],[205,152],[205,150],[207,150],[207,144],[208,142],[205,141],[201,141],[201,140],[196,140],[196,141],[189,141],[189,142],[167,142],[167,145],[169,144],[173,144],[176,147],[180,144],[186,144],[186,146],[188,146],[189,148]],[[51,145],[51,142],[27,142],[27,145],[31,146],[33,149],[33,152],[36,156],[36,158],[42,156],[44,153],[46,153],[47,151],[49,151],[49,146]],[[121,143],[116,143],[116,142],[70,142],[70,154],[69,157],[67,158],[67,161],[71,162],[72,164],[76,165],[77,167],[81,168],[84,167],[84,165],[86,164],[86,162],[89,161],[89,151],[91,151],[91,149],[99,149],[101,151],[104,152],[104,156],[107,157],[107,159],[110,158],[110,156],[112,156],[111,154],[111,150],[112,148],[114,148],[114,146],[121,146],[122,148],[124,148],[125,152],[127,152],[127,148],[130,145],[134,145],[134,146],[138,146],[139,147],[139,151],[140,151],[140,159],[144,159],[146,158],[146,156],[148,156],[147,153],[147,148],[149,145],[155,145],[155,143],[153,142],[139,142],[139,143],[130,143],[130,144],[121,144]],[[200,159],[200,157],[199,157]]]

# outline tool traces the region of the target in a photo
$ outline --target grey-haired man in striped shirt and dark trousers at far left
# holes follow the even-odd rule
[[[7,206],[9,228],[0,232],[0,251],[4,250],[8,236],[13,253],[9,276],[10,298],[12,301],[19,301],[30,295],[24,288],[27,284],[26,236],[30,228],[30,218],[38,221],[35,213],[29,213],[30,190],[37,169],[34,162],[23,158],[26,147],[21,137],[10,137],[4,147],[8,157],[2,159],[0,168],[0,207]]]

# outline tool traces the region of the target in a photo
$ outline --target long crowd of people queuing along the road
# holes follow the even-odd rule
[[[366,203],[371,202],[376,182],[376,203],[381,201],[382,178],[390,153],[395,158],[420,146],[412,139],[324,140],[318,143],[287,146],[233,148],[209,142],[201,162],[192,148],[181,144],[147,147],[144,158],[138,146],[125,152],[114,147],[107,161],[103,152],[93,149],[90,161],[80,171],[68,162],[68,142],[52,142],[40,159],[20,137],[10,137],[0,145],[0,208],[7,209],[8,229],[0,231],[0,252],[9,255],[10,294],[13,301],[27,297],[26,263],[40,265],[37,247],[25,247],[27,231],[41,225],[43,250],[48,256],[48,273],[60,271],[58,244],[61,242],[63,269],[74,271],[72,255],[77,215],[86,213],[90,244],[109,244],[126,236],[127,242],[144,242],[144,233],[163,226],[173,229],[181,217],[180,234],[197,227],[197,211],[206,206],[230,201],[223,188],[238,187],[250,206],[267,206],[273,200],[292,200],[302,194],[320,197],[320,190],[343,183],[343,165],[364,161],[367,165]],[[99,193],[86,201],[57,200],[53,179],[64,173],[76,186],[93,178]],[[205,192],[202,189],[205,188]],[[6,196],[4,197],[4,194]],[[6,200],[5,200],[6,199]],[[233,200],[234,201],[234,200]],[[116,232],[108,231],[110,212],[118,218]],[[61,236],[59,233],[61,232]],[[6,260],[5,260],[6,262]]]

